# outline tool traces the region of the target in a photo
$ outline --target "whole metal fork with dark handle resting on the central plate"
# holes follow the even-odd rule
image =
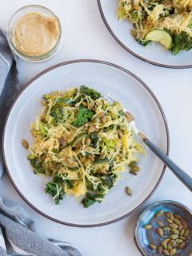
[[[105,98],[109,102],[117,102],[110,94],[106,94]],[[135,125],[133,114],[126,110],[125,107],[123,107],[123,111],[126,115],[126,120],[127,122],[129,122],[130,128],[134,131],[134,133],[137,134],[138,137],[142,140],[142,142],[144,142],[146,146],[148,146],[150,150],[152,150],[154,154],[156,154],[158,158],[160,158],[162,162],[164,162],[166,166],[169,167],[170,170],[174,172],[174,174],[180,179],[180,181],[183,184],[185,184],[190,191],[192,191],[192,178],[190,178],[190,176],[186,174],[184,170],[182,170],[172,160],[170,160],[170,158],[168,158],[166,154],[162,152],[162,150],[155,146],[153,142],[150,142],[149,138],[147,138],[146,135],[142,134],[142,132],[138,130],[138,128]]]

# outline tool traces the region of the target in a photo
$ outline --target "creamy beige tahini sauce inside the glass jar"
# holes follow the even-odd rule
[[[58,20],[39,13],[28,13],[14,26],[15,48],[28,56],[47,54],[58,42]]]

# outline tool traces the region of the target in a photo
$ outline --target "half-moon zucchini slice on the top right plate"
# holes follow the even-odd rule
[[[161,29],[151,30],[148,34],[146,34],[145,40],[159,42],[162,46],[165,46],[166,49],[170,49],[173,42],[170,33]]]

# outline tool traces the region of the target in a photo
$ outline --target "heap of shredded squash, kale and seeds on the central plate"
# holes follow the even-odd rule
[[[85,207],[102,202],[143,152],[120,103],[86,86],[44,95],[31,133],[30,165],[34,174],[50,177],[45,192],[56,204],[66,194],[82,196]]]

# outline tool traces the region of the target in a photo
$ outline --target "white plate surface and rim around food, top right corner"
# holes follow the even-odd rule
[[[158,66],[170,68],[192,67],[192,50],[188,52],[183,51],[177,56],[173,56],[169,50],[164,50],[158,44],[146,47],[138,44],[130,34],[133,25],[127,20],[118,20],[116,18],[118,0],[98,0],[98,7],[110,34],[130,54],[134,54],[134,56],[143,61]]]

